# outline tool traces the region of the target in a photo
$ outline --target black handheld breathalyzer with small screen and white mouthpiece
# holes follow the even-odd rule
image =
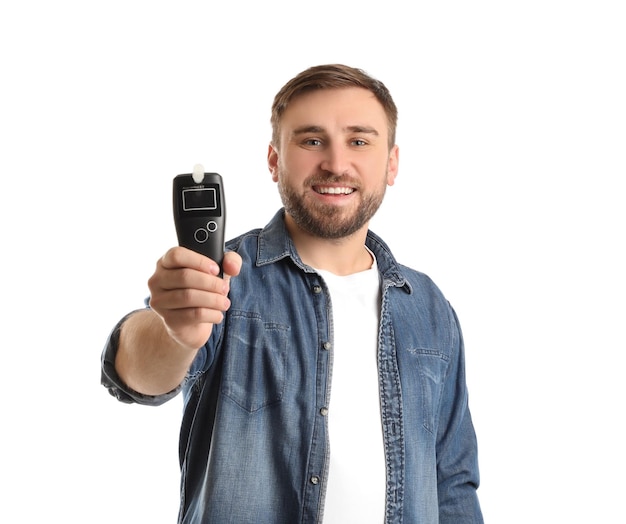
[[[226,226],[222,177],[205,173],[196,164],[193,173],[174,177],[173,193],[178,244],[209,257],[221,268]]]

